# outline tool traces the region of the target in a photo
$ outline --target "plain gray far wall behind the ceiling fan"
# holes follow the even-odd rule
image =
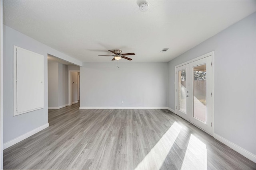
[[[80,67],[80,107],[167,106],[168,63],[118,66],[114,61]]]

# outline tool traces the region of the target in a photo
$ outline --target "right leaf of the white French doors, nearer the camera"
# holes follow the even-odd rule
[[[212,56],[190,63],[189,121],[212,135]]]

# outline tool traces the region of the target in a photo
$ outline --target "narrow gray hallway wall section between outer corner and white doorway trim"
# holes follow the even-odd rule
[[[68,66],[59,63],[58,106],[68,104]]]

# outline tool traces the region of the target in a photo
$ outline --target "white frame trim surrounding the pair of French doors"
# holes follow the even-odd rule
[[[174,69],[175,69],[175,71],[174,71],[174,76],[175,76],[175,82],[174,82],[174,84],[175,84],[175,89],[174,89],[174,91],[175,91],[175,109],[174,110],[175,110],[175,112],[174,113],[177,114],[177,109],[178,109],[178,107],[177,107],[177,105],[178,105],[178,103],[177,103],[177,100],[178,100],[178,87],[177,87],[178,80],[177,80],[177,75],[176,75],[177,74],[177,68],[180,67],[180,66],[192,63],[194,61],[209,57],[209,56],[212,56],[212,133],[210,134],[207,131],[205,131],[204,129],[195,125],[194,123],[192,123],[190,121],[189,122],[212,136],[214,134],[214,51],[211,51],[210,53],[206,53],[204,55],[196,57],[195,59],[191,59],[189,61],[186,61],[182,64],[178,64],[174,67]]]

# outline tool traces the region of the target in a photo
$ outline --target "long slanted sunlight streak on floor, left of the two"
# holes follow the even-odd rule
[[[174,122],[158,143],[156,143],[140,164],[138,164],[135,170],[160,169],[181,129],[182,126]]]

